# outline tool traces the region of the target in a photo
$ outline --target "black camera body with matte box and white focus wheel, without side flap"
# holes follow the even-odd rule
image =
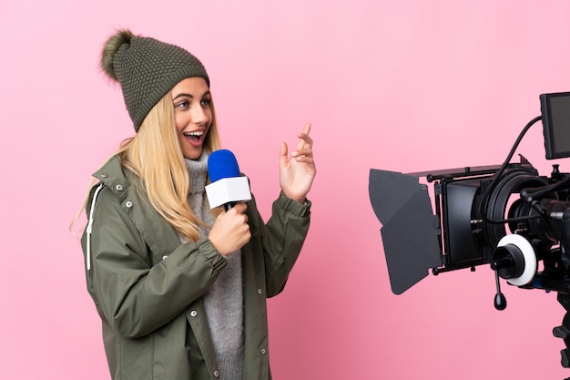
[[[549,177],[540,176],[521,160],[500,174],[488,174],[489,169],[426,174],[433,181],[442,226],[442,264],[434,274],[490,264],[510,284],[568,293],[568,174],[555,165]],[[544,269],[536,272],[541,261]]]

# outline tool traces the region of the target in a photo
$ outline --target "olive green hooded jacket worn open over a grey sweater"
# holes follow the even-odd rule
[[[217,380],[202,295],[227,265],[208,238],[181,243],[135,176],[109,159],[94,176],[82,237],[87,291],[102,324],[114,380]],[[135,187],[137,187],[136,190]],[[95,200],[95,201],[94,201]],[[243,379],[271,378],[266,299],[283,290],[309,230],[310,202],[280,194],[265,224],[248,201],[241,249]],[[222,379],[223,380],[223,379]]]

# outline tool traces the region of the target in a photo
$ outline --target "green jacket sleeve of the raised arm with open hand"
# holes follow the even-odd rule
[[[282,192],[273,202],[262,231],[268,297],[279,294],[299,257],[310,225],[310,201],[291,200]]]

